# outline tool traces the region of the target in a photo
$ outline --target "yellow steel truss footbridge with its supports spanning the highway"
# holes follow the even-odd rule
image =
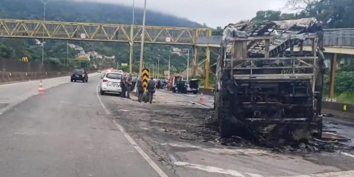
[[[0,37],[127,42],[130,45],[130,72],[132,72],[133,44],[141,42],[142,33],[142,25],[0,19]],[[196,46],[197,38],[211,36],[211,29],[145,26],[144,33],[145,43],[193,46],[192,77],[196,75],[197,64],[205,63],[203,75],[209,80],[209,46],[204,47],[205,59],[199,63]],[[205,87],[208,87],[208,82],[205,83]]]

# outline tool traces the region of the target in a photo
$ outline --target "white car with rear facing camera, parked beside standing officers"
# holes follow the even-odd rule
[[[101,95],[105,92],[119,93],[121,94],[122,88],[120,87],[120,79],[123,73],[119,72],[107,72],[101,77]]]

